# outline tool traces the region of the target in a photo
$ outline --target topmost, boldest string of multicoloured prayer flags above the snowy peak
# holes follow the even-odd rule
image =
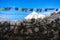
[[[43,11],[48,11],[48,10],[55,10],[55,11],[59,10],[58,8],[45,8],[45,9],[42,9],[42,8],[14,8],[14,9],[17,10],[17,11],[25,11],[25,12],[28,12],[28,11],[43,12]],[[0,8],[0,10],[10,11],[11,7]]]

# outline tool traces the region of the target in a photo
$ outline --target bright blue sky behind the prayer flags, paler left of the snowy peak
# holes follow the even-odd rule
[[[60,0],[0,0],[0,7],[12,7],[10,11],[1,11],[0,17],[10,20],[22,20],[31,12],[19,12],[14,10],[20,8],[60,8]]]

